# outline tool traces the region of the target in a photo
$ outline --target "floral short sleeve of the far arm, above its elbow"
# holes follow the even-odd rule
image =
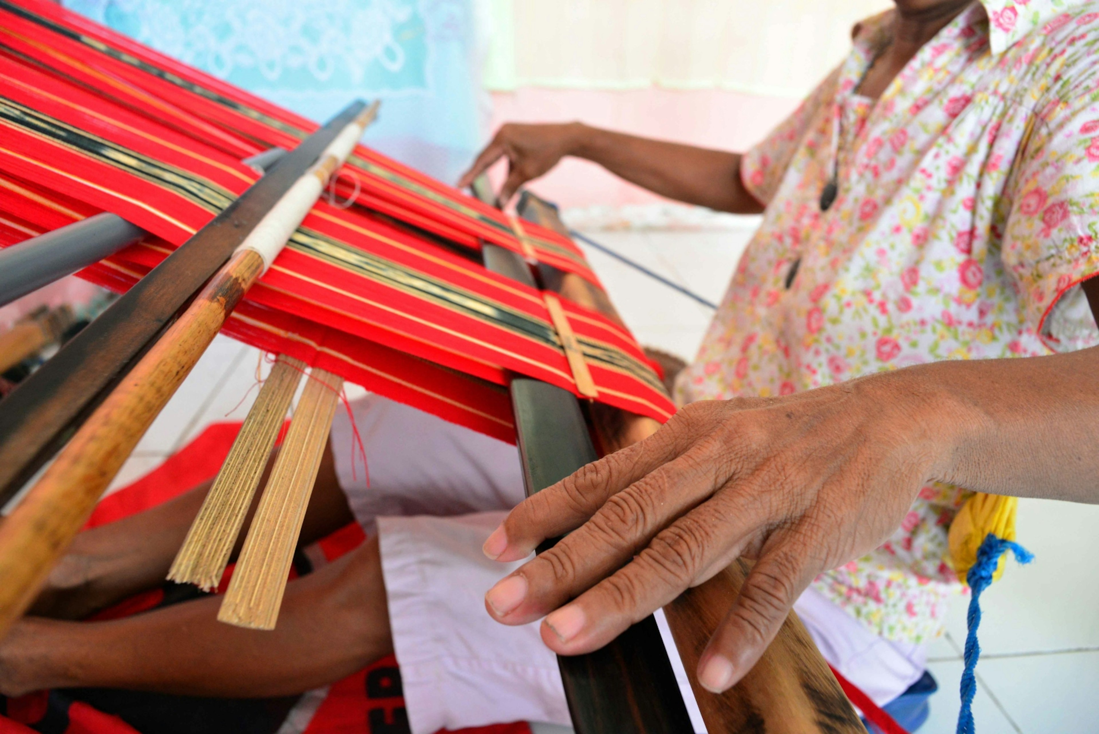
[[[798,109],[741,158],[741,179],[759,204],[770,204],[793,154],[819,116],[835,101],[840,68],[829,74]]]

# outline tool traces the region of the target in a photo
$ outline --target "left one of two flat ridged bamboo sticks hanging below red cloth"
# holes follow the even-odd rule
[[[218,588],[304,369],[304,362],[285,354],[275,362],[171,563],[168,580],[207,591]]]

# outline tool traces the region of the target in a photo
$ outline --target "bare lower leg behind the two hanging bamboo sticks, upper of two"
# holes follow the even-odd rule
[[[271,453],[259,487],[278,451]],[[49,576],[31,614],[64,620],[77,620],[109,606],[140,591],[162,584],[176,552],[187,536],[191,521],[202,506],[211,482],[204,482],[175,500],[81,533],[68,554]],[[259,501],[256,492],[233,556],[244,543],[246,528]],[[325,449],[309,501],[301,545],[308,545],[352,522],[347,500],[340,490],[332,461]]]

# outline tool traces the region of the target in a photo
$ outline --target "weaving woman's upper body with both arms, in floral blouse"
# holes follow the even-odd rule
[[[1099,501],[1099,353],[1067,353],[1099,336],[1080,287],[1099,270],[1091,10],[897,0],[742,156],[500,131],[467,178],[507,155],[503,198],[573,154],[764,222],[679,379],[687,407],[488,539],[513,561],[575,530],[488,593],[492,616],[548,614],[552,649],[588,651],[754,557],[698,671],[722,691],[807,589],[884,639],[936,634],[969,491]]]

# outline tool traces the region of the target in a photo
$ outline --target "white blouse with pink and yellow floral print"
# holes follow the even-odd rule
[[[878,100],[854,90],[892,11],[861,24],[846,62],[743,160],[763,226],[677,399],[1099,342],[1078,287],[1099,272],[1096,10],[975,2]],[[925,486],[888,543],[814,588],[884,637],[937,635],[959,588],[946,532],[967,496]]]

